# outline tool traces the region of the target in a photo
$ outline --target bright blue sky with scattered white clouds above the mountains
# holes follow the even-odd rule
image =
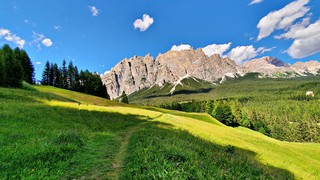
[[[36,79],[48,60],[110,70],[124,58],[202,50],[238,64],[320,60],[319,0],[0,0],[0,46],[25,49]]]

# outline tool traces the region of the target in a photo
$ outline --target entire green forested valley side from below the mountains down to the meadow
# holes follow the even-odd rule
[[[155,98],[158,107],[206,112],[220,122],[293,142],[320,142],[320,76],[238,79],[207,94]],[[315,96],[306,96],[312,90]],[[149,99],[150,101],[150,99]],[[150,101],[152,102],[152,101]]]

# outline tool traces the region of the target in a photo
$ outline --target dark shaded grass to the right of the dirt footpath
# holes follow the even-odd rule
[[[221,146],[164,123],[149,123],[130,139],[121,179],[294,179],[256,160],[254,152]]]

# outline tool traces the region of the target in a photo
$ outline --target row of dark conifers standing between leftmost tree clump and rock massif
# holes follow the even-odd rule
[[[62,67],[59,67],[56,63],[47,61],[42,74],[41,84],[110,99],[100,75],[88,70],[81,70],[79,72],[78,67],[74,66],[72,61],[67,66],[66,61],[63,60]]]

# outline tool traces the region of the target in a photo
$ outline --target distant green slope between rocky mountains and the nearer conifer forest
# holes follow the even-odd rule
[[[135,92],[129,96],[129,101],[131,103],[145,105],[223,98],[249,98],[249,100],[254,101],[276,101],[279,99],[288,99],[293,94],[305,95],[308,90],[313,90],[316,95],[318,95],[320,94],[319,80],[319,75],[292,79],[259,79],[248,75],[239,79],[228,79],[223,84],[213,86],[209,92],[199,91],[196,93],[188,93],[187,91],[182,91],[182,93],[172,96],[163,96],[163,94],[168,91],[158,88],[154,91],[141,90]]]

